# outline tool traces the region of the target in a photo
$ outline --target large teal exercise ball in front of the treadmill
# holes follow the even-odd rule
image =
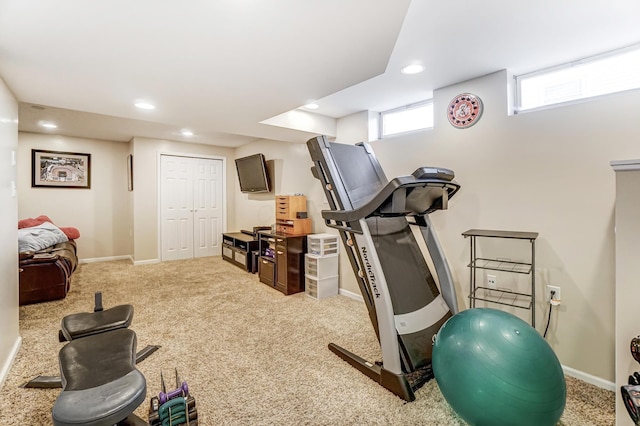
[[[504,311],[474,308],[436,335],[433,374],[453,410],[471,425],[555,425],[567,386],[549,344]]]

